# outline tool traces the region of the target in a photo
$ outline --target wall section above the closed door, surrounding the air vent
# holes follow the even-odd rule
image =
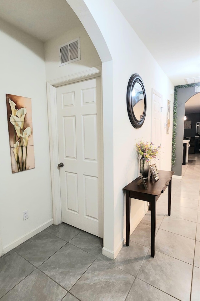
[[[59,46],[80,37],[81,59],[59,67]],[[46,80],[62,78],[101,65],[98,53],[83,26],[66,31],[45,43]]]

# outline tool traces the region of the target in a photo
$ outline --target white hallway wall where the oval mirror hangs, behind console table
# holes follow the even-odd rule
[[[104,247],[106,250],[110,250],[110,254],[114,254],[115,257],[122,247],[123,238],[125,237],[125,205],[122,189],[138,177],[138,161],[134,150],[135,143],[141,138],[147,141],[151,139],[152,88],[163,95],[163,121],[166,123],[167,99],[171,100],[173,107],[173,96],[170,95],[173,84],[112,0],[99,0],[98,2],[78,0],[76,3],[73,0],[67,0],[67,2],[86,28],[102,62],[105,62],[105,59],[99,44],[98,35],[95,34],[96,26],[98,26],[113,59],[113,86],[111,88],[113,90],[113,111],[110,113],[113,119],[110,118],[110,122],[113,123],[114,183],[112,184],[112,178],[110,181],[104,181],[104,190],[109,189],[109,186],[112,189],[113,185],[113,199],[104,199],[104,204],[105,202],[110,204],[110,206],[107,206],[108,210],[104,211]],[[139,73],[143,78],[147,96],[146,119],[140,129],[133,128],[127,114],[127,84],[133,73]],[[103,63],[104,76],[106,77],[107,75],[104,73]],[[105,99],[103,98],[104,105]],[[161,166],[162,169],[167,170],[171,170],[172,115],[171,112],[170,135],[165,134],[166,129],[164,129],[164,122],[162,121],[163,153]],[[112,149],[110,152],[112,152]],[[106,173],[105,169],[104,173]],[[145,212],[144,204],[142,201],[132,201],[132,230],[143,217]]]

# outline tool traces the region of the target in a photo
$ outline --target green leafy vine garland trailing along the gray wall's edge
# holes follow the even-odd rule
[[[173,134],[172,134],[172,166],[175,165],[176,161],[176,128],[177,128],[177,105],[178,105],[178,100],[177,100],[177,92],[178,89],[183,89],[183,88],[189,88],[189,87],[195,87],[199,86],[200,83],[190,83],[187,85],[179,85],[174,87],[174,110],[173,110]]]

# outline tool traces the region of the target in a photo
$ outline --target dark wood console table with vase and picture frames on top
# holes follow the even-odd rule
[[[129,246],[130,242],[130,213],[131,213],[131,198],[146,201],[150,203],[151,210],[151,256],[155,255],[155,236],[156,236],[156,201],[161,193],[165,191],[168,186],[168,215],[171,214],[171,191],[172,191],[172,176],[174,171],[159,170],[159,180],[156,182],[146,179],[148,190],[145,190],[141,184],[138,186],[138,180],[123,188],[126,191],[126,245]]]

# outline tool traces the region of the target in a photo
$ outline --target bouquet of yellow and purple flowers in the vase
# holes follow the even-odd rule
[[[141,155],[143,160],[149,162],[151,159],[157,159],[160,154],[160,146],[154,147],[152,142],[139,141],[136,143],[138,156]]]

